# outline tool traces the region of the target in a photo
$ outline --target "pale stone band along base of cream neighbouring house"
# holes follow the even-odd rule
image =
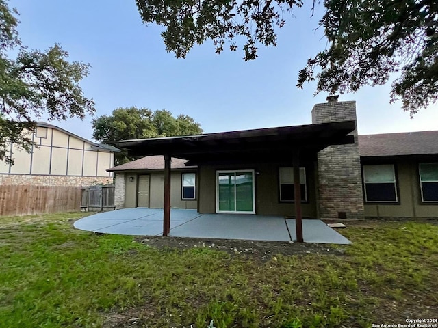
[[[0,185],[88,187],[112,184],[110,176],[38,176],[30,174],[0,174]]]

